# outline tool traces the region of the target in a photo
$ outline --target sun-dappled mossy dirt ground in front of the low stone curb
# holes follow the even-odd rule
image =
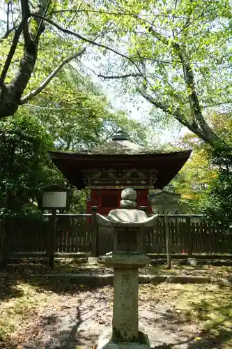
[[[95,348],[111,326],[113,288],[0,276],[0,348]],[[232,348],[231,288],[140,285],[139,327],[152,348]]]

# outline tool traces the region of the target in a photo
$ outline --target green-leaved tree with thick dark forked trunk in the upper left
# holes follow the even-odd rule
[[[94,1],[80,0],[5,1],[1,10],[6,16],[0,23],[0,117],[15,114],[19,105],[45,89],[63,66],[82,57],[97,36],[102,38],[103,34],[91,28],[94,6]]]

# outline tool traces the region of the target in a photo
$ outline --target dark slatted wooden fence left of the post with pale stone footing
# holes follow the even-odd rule
[[[50,215],[41,220],[29,218],[11,220],[8,225],[8,252],[49,251]],[[55,252],[88,253],[91,248],[91,214],[58,214]]]

